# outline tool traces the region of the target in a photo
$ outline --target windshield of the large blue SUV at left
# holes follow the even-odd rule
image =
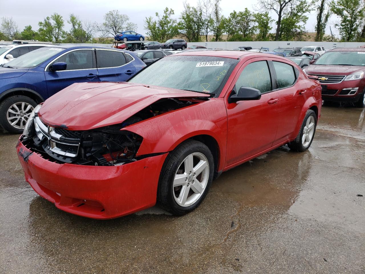
[[[48,58],[55,56],[61,50],[60,47],[41,47],[40,49],[33,50],[27,54],[19,56],[18,58],[11,60],[4,65],[4,68],[34,68],[39,64],[46,61]]]

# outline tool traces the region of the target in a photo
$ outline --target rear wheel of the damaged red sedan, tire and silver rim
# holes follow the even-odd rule
[[[313,110],[307,110],[296,139],[288,143],[293,151],[306,151],[312,144],[316,132],[317,116]]]

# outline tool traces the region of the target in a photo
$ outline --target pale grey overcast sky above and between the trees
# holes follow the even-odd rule
[[[65,29],[70,28],[67,24],[67,19],[70,14],[77,15],[81,20],[96,21],[98,23],[103,22],[103,16],[106,12],[112,9],[118,9],[122,14],[127,14],[130,17],[131,22],[138,25],[136,30],[138,33],[145,34],[144,20],[147,16],[154,16],[155,12],[162,13],[163,9],[167,6],[172,8],[175,12],[175,17],[180,16],[183,11],[183,1],[153,1],[139,0],[139,1],[126,1],[126,0],[61,0],[61,1],[45,1],[45,0],[0,0],[0,17],[7,16],[12,17],[19,26],[20,30],[27,25],[31,25],[34,30],[38,30],[38,22],[42,21],[46,16],[57,12],[61,14],[65,19]],[[196,5],[197,0],[188,0],[187,3]],[[242,11],[245,8],[253,11],[253,6],[256,3],[253,1],[237,1],[237,0],[222,0],[222,14],[228,16],[230,12]],[[316,22],[316,10],[309,15],[306,29],[310,32],[314,31]],[[276,14],[271,14],[273,19],[276,19]],[[335,18],[330,18],[329,22],[334,23]],[[271,32],[274,32],[275,26],[272,26]],[[334,27],[332,27],[334,31]],[[329,34],[329,27],[327,27],[326,33]],[[337,34],[337,31],[335,32]]]

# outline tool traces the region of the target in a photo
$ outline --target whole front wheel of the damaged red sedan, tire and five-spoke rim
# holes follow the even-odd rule
[[[210,149],[195,140],[178,146],[166,158],[158,184],[157,199],[174,215],[191,212],[207,195],[213,180]]]

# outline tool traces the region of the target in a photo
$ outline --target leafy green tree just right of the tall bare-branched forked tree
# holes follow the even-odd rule
[[[307,23],[308,12],[311,9],[311,4],[306,0],[300,0],[296,5],[292,5],[290,12],[285,14],[281,20],[281,27],[279,32],[279,40],[303,40],[306,33],[304,25]]]

